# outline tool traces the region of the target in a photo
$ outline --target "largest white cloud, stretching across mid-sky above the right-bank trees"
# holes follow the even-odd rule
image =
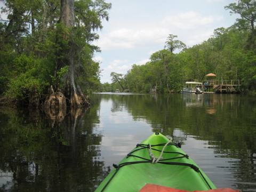
[[[215,0],[216,1],[216,0]],[[205,29],[214,22],[222,20],[222,17],[217,15],[201,15],[195,11],[188,11],[176,15],[168,15],[162,19],[162,22],[141,23],[140,28],[119,28],[110,31],[107,34],[101,34],[97,45],[102,51],[115,49],[134,49],[135,47],[146,47],[154,45],[163,45],[166,37],[169,34],[178,34],[181,39],[184,36],[185,43],[199,41],[193,39],[193,34],[206,36],[208,32]],[[186,31],[185,31],[186,30]],[[188,36],[188,30],[190,35]],[[207,36],[210,37],[210,36]],[[207,38],[206,37],[206,38]],[[190,43],[189,43],[190,44]]]

